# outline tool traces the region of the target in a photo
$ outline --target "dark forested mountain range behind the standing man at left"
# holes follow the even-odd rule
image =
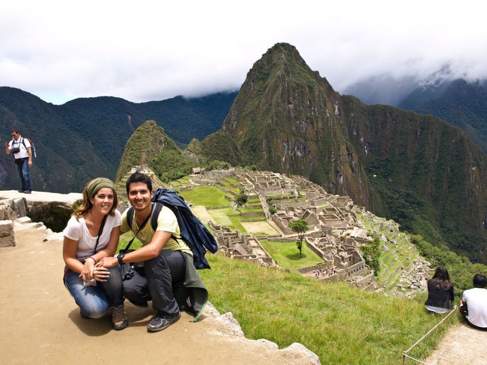
[[[146,103],[96,97],[53,105],[22,90],[0,87],[0,137],[9,140],[10,130],[18,126],[36,144],[34,190],[81,191],[93,177],[115,178],[125,142],[146,120],[155,120],[184,146],[221,128],[235,96],[178,96]],[[13,159],[2,160],[0,188],[18,188]]]

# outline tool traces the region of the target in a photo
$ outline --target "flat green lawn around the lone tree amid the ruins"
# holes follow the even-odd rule
[[[304,242],[302,246],[302,258],[299,257],[299,250],[294,241],[274,242],[260,240],[260,243],[262,243],[262,246],[269,252],[272,259],[277,262],[277,265],[281,266],[283,269],[302,269],[323,262],[323,259],[309,249]]]

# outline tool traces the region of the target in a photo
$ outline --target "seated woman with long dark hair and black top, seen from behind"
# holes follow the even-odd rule
[[[430,312],[446,313],[451,309],[453,299],[453,283],[450,281],[448,270],[444,266],[438,266],[433,277],[428,280],[428,299],[425,307]]]

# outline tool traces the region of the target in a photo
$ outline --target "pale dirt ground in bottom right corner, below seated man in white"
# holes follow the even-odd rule
[[[431,365],[485,365],[486,345],[487,331],[475,330],[463,323],[448,331],[425,362]]]

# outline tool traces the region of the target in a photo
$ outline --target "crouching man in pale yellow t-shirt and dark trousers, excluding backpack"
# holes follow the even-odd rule
[[[151,202],[154,191],[150,177],[135,172],[127,179],[126,189],[133,209],[122,214],[120,230],[121,233],[132,231],[143,246],[117,257],[104,258],[99,265],[122,266],[123,296],[132,304],[147,307],[147,302],[152,300],[157,313],[147,325],[149,332],[162,331],[176,322],[181,317],[180,310],[195,314],[196,321],[206,305],[208,293],[194,268],[193,253],[181,239],[175,214],[163,206],[154,230],[151,215],[155,203]]]

